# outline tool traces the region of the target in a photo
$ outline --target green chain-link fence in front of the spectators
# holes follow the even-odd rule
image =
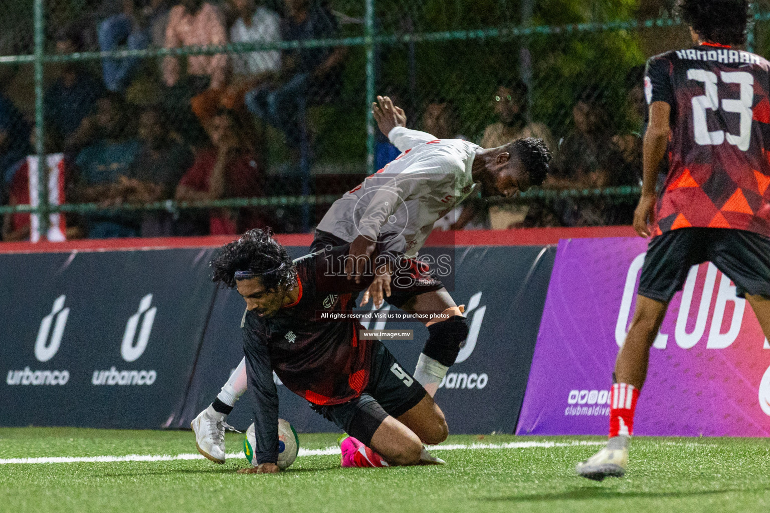
[[[628,224],[645,59],[690,45],[671,3],[10,0],[3,238],[306,232],[397,156],[378,94],[437,138],[551,147],[542,188],[469,199],[467,228]]]

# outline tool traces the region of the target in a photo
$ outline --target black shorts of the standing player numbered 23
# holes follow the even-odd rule
[[[732,228],[678,228],[650,241],[639,295],[668,302],[693,265],[711,261],[735,282],[738,297],[770,298],[770,238]]]

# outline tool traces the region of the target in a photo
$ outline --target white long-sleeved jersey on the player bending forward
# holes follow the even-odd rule
[[[388,138],[401,155],[334,202],[317,228],[346,242],[403,237],[404,253],[413,256],[434,223],[474,191],[470,170],[480,147],[404,127]]]

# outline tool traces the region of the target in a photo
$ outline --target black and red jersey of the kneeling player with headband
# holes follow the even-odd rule
[[[357,398],[369,384],[374,340],[358,337],[363,328],[351,318],[358,293],[373,275],[360,283],[348,280],[344,256],[350,244],[326,248],[295,261],[299,297],[270,318],[252,311],[243,315],[247,394],[254,412],[257,461],[278,457],[278,395],[273,371],[296,395],[316,405],[339,405]],[[393,255],[395,256],[395,255]],[[440,286],[413,259],[397,265],[391,290],[415,295]],[[400,279],[399,279],[400,278]],[[407,279],[413,278],[413,279]]]

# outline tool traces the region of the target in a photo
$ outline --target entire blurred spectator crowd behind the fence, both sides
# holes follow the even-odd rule
[[[179,0],[176,5],[166,0],[105,0],[87,18],[56,30],[55,52],[237,47],[339,36],[340,15],[323,0],[279,0],[270,8],[260,0]],[[313,138],[307,108],[338,98],[346,53],[341,46],[243,48],[161,59],[69,60],[56,69],[46,68],[50,79],[42,144],[46,154],[63,155],[60,187],[65,202],[113,206],[307,192],[303,180],[309,175]],[[35,154],[36,143],[33,116],[18,105],[18,94],[9,91],[14,77],[8,69],[0,69],[0,204],[26,205],[32,168],[28,155]],[[513,138],[544,138],[554,152],[545,188],[638,185],[641,83],[642,70],[634,68],[626,102],[627,118],[635,123],[631,129],[611,129],[600,90],[589,88],[576,99],[569,131],[557,136],[527,112],[527,85],[517,80],[502,83],[490,91],[496,121],[477,142],[490,148]],[[420,111],[410,117],[413,128],[437,138],[464,138],[450,100],[425,102]],[[268,176],[269,131],[283,139],[300,178],[283,177],[279,184]],[[378,137],[375,164],[381,168],[398,152]],[[488,207],[469,198],[440,224],[445,229],[629,224],[633,208],[632,202],[608,199]],[[276,232],[296,232],[303,228],[299,215],[249,207],[99,211],[65,217],[68,238],[114,238],[226,235],[266,225]],[[2,240],[29,236],[29,215],[5,215]]]

